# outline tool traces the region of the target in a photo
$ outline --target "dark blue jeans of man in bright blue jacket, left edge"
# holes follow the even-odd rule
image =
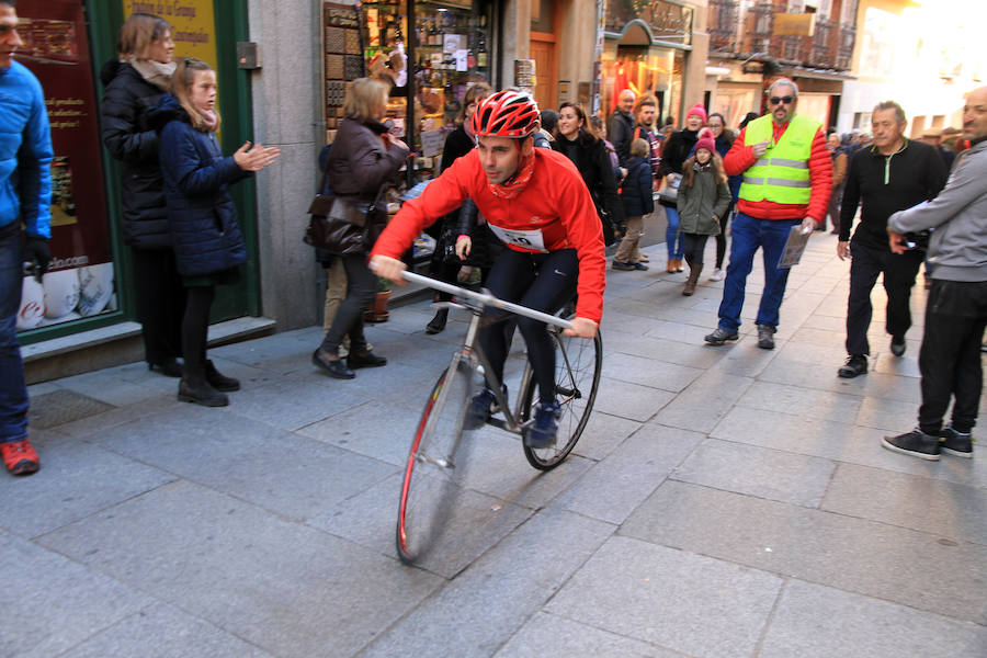
[[[27,387],[18,344],[22,281],[21,230],[0,227],[0,443],[27,438]]]

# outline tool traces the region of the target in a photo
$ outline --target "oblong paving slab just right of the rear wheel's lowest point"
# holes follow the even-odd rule
[[[702,438],[695,432],[647,423],[590,468],[552,506],[610,523],[623,523]]]

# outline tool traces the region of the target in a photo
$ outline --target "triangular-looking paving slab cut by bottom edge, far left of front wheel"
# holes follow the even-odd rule
[[[152,654],[150,647],[154,647]],[[226,631],[173,605],[156,603],[105,628],[59,658],[273,658]]]

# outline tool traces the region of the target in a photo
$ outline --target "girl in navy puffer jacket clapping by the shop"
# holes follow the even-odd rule
[[[227,188],[272,164],[281,150],[250,143],[227,158],[216,144],[219,128],[216,72],[194,58],[179,63],[172,78],[173,97],[164,97],[151,113],[160,131],[161,173],[168,222],[174,240],[178,271],[188,292],[182,320],[185,364],[179,400],[206,407],[229,404],[224,392],[240,383],[219,374],[206,361],[209,307],[216,285],[236,283],[247,248],[237,211]]]

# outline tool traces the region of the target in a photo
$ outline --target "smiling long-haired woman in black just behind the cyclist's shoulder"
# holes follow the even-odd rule
[[[616,178],[610,163],[610,155],[603,143],[589,132],[586,112],[574,103],[563,103],[558,109],[558,135],[552,148],[572,160],[589,188],[590,196],[601,215],[603,238],[606,245],[614,242],[614,227],[624,220],[621,197],[616,192]],[[606,215],[603,217],[602,214]]]

